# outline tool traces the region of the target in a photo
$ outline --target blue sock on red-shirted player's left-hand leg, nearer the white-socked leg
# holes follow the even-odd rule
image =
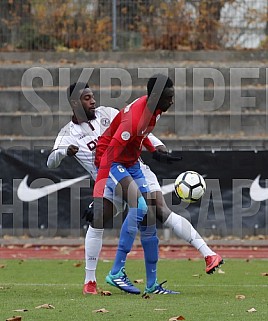
[[[142,221],[144,213],[141,209],[130,208],[127,217],[122,224],[118,248],[114,260],[111,274],[117,274],[120,269],[125,266],[127,255],[130,252],[135,237],[138,232],[138,223]]]

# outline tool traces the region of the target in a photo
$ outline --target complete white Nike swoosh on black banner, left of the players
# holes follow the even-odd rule
[[[57,192],[63,188],[66,188],[68,186],[71,186],[75,183],[78,183],[85,178],[88,178],[89,175],[84,175],[81,177],[77,178],[72,178],[64,182],[59,182],[47,186],[43,186],[40,188],[31,188],[27,185],[27,180],[28,180],[29,175],[26,175],[24,179],[21,181],[18,190],[17,190],[17,195],[18,198],[23,201],[23,202],[32,202],[36,201],[39,198],[42,198],[44,196],[47,196],[49,194],[52,194],[54,192]]]

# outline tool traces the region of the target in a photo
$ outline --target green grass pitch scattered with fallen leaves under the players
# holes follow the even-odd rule
[[[104,281],[112,262],[98,265],[98,287],[111,296],[83,296],[83,264],[72,260],[0,260],[0,320],[22,316],[22,321],[137,320],[186,321],[268,320],[267,260],[229,259],[222,273],[206,275],[203,260],[160,260],[158,280],[180,295],[126,294]],[[79,264],[78,264],[79,265]],[[145,279],[144,262],[129,260],[131,280]],[[223,273],[224,272],[224,273]],[[144,284],[137,284],[142,291]],[[237,295],[244,295],[239,300]],[[42,304],[55,309],[36,309]],[[108,313],[93,310],[105,308]],[[254,308],[256,312],[247,312]],[[15,312],[27,309],[25,312]]]

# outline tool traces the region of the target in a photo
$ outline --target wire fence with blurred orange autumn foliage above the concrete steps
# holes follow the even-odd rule
[[[268,0],[1,0],[0,50],[268,48]]]

